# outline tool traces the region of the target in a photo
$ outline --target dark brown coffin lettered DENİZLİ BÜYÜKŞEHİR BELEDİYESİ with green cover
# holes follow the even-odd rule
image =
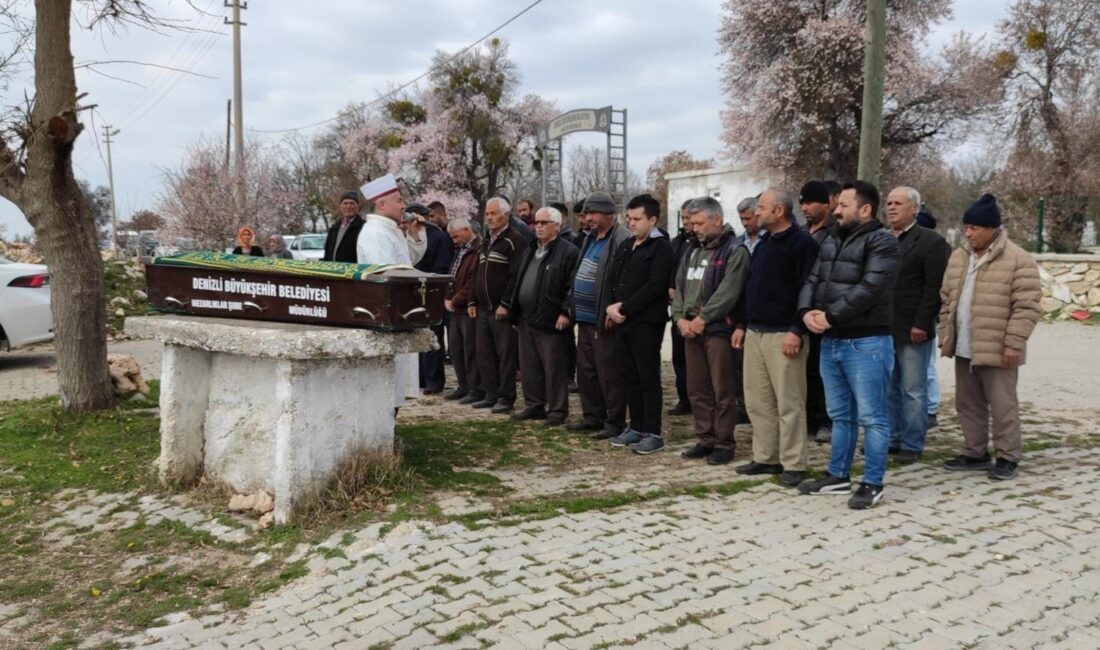
[[[182,253],[145,265],[157,311],[409,330],[443,320],[451,276],[404,265]]]

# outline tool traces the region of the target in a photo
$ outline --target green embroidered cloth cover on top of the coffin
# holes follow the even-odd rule
[[[346,264],[344,262],[320,262],[318,260],[280,260],[277,257],[253,257],[229,253],[179,253],[156,257],[157,266],[183,266],[186,268],[216,268],[218,271],[242,271],[270,275],[296,275],[302,277],[327,277],[330,279],[366,279],[375,273],[391,269],[410,269],[406,264]]]

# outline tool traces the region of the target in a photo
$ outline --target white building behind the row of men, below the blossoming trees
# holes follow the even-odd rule
[[[726,222],[740,234],[745,229],[737,218],[737,203],[768,189],[771,181],[761,178],[747,167],[715,167],[695,172],[666,174],[669,181],[669,232],[680,230],[680,206],[688,199],[712,197],[718,199],[726,214]]]

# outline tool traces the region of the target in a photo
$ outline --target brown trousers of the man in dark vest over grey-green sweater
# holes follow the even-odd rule
[[[688,362],[688,398],[695,417],[698,441],[717,449],[734,449],[737,427],[737,374],[729,337],[684,340]]]

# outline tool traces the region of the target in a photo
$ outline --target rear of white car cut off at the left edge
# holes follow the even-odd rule
[[[16,264],[0,257],[0,348],[53,338],[50,272],[42,264]]]

